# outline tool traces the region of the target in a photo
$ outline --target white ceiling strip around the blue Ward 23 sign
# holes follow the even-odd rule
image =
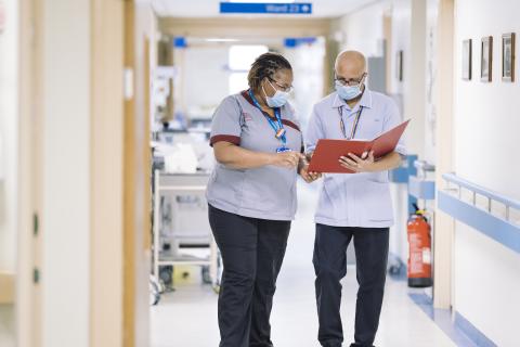
[[[222,0],[225,1],[225,0]],[[232,0],[233,2],[240,2]],[[313,14],[310,17],[338,17],[380,0],[300,0],[311,2]],[[265,14],[220,14],[220,0],[152,0],[155,12],[161,17],[273,17],[281,15]],[[291,0],[243,0],[242,2],[295,2]],[[306,17],[306,15],[290,15],[291,17]]]

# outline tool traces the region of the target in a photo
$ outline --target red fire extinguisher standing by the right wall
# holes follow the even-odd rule
[[[431,228],[421,210],[414,204],[415,213],[410,216],[408,234],[408,286],[428,287],[431,279]]]

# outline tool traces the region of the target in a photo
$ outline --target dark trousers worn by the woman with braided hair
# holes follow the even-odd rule
[[[209,206],[224,270],[219,295],[220,347],[269,347],[276,278],[290,221],[237,216]]]

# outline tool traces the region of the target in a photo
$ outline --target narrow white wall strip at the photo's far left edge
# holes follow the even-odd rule
[[[13,273],[16,259],[18,5],[3,4],[0,34],[0,272]]]

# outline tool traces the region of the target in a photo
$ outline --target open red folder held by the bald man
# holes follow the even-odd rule
[[[408,123],[410,119],[381,133],[372,141],[321,139],[317,141],[316,149],[312,155],[309,171],[353,174],[353,171],[339,165],[340,156],[348,156],[349,153],[352,153],[361,157],[363,153],[374,151],[374,158],[379,159],[395,150],[399,139],[401,139]]]

